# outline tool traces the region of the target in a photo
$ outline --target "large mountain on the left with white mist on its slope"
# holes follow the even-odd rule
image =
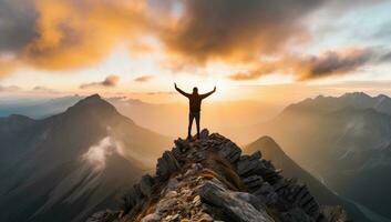
[[[0,119],[0,221],[84,221],[171,141],[136,125],[97,94],[42,120]]]

